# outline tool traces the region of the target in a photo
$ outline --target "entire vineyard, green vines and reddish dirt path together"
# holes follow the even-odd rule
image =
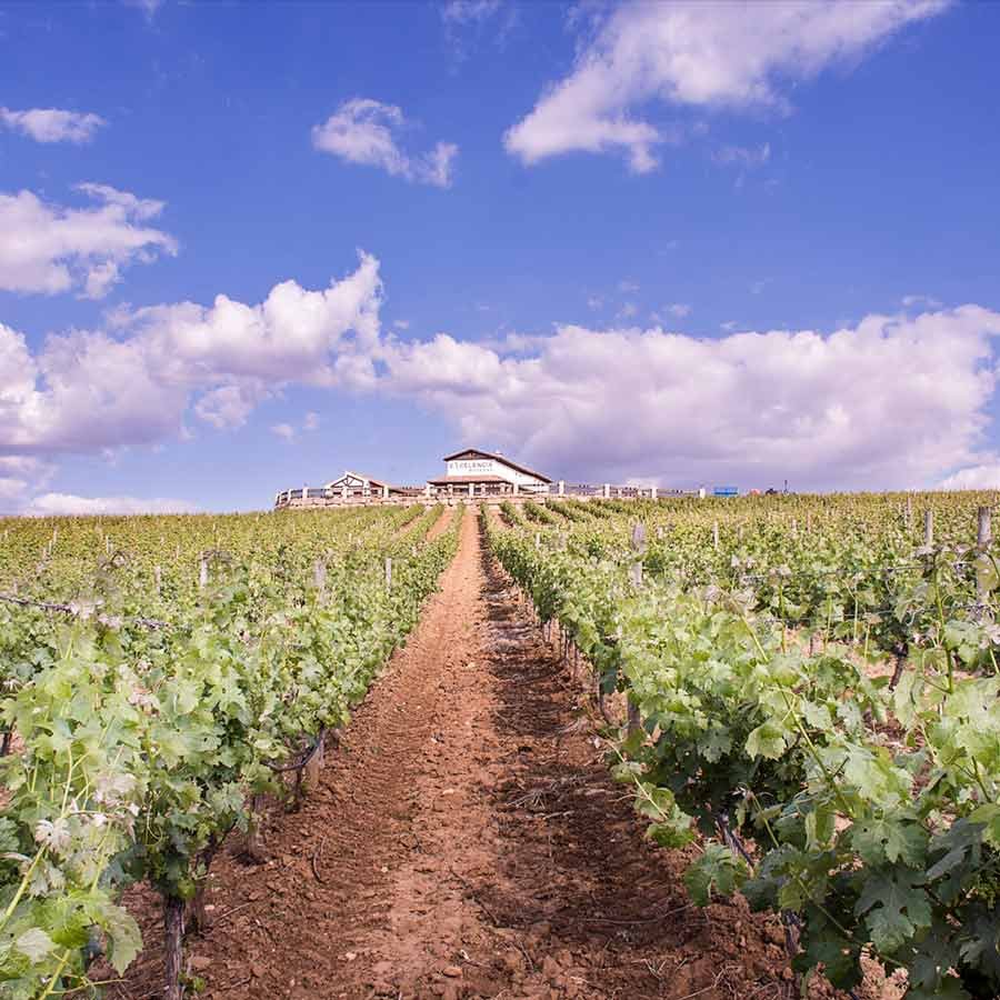
[[[0,996],[996,998],[994,500],[8,522]]]

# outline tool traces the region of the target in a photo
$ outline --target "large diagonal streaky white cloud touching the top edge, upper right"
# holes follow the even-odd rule
[[[850,63],[949,0],[788,0],[782,3],[631,0],[598,21],[568,77],[510,128],[504,146],[526,164],[572,151],[622,150],[630,168],[658,166],[677,124],[636,117],[650,103],[789,109],[782,88]],[[579,20],[579,19],[578,19]]]

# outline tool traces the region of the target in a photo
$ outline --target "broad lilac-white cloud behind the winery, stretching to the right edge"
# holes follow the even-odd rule
[[[567,326],[524,358],[442,334],[393,346],[386,388],[568,476],[917,487],[980,460],[998,336],[1000,312],[978,306],[829,334]]]

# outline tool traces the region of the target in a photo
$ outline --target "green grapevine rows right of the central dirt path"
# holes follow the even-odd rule
[[[794,968],[844,990],[870,953],[913,1000],[1000,996],[992,499],[566,503],[491,529],[594,670],[650,837],[698,839],[692,899],[779,912]]]

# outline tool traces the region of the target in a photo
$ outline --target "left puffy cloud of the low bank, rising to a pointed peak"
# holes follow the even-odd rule
[[[379,262],[326,289],[294,281],[256,306],[218,296],[117,310],[114,336],[74,330],[37,353],[0,324],[0,454],[93,452],[180,432],[191,409],[239,427],[290,382],[364,388],[374,381]]]

